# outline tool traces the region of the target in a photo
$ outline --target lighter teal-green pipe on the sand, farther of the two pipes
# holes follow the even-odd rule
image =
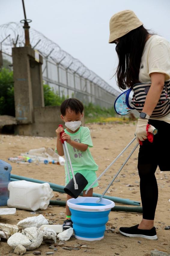
[[[36,183],[48,183],[50,185],[50,187],[53,189],[53,191],[65,193],[64,186],[61,186],[61,185],[58,185],[55,183],[50,183],[50,182],[46,182],[46,181],[42,181],[42,180],[35,180],[35,179],[31,179],[31,178],[27,178],[27,177],[15,175],[15,174],[11,174],[11,179],[26,180],[26,181],[36,182]],[[82,193],[80,195],[82,195]],[[93,193],[93,197],[101,197],[101,195],[97,194],[97,193]],[[103,198],[114,201],[115,203],[137,205],[137,206],[140,205],[140,202],[138,202],[138,201],[131,201],[129,199],[124,199],[124,198],[119,198],[119,197],[114,197],[114,196],[105,195]]]

